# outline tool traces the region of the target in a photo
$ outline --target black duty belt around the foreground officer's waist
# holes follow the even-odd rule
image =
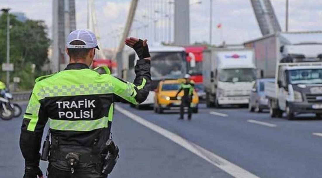
[[[54,151],[49,156],[49,161],[54,162],[56,160],[66,161],[67,152]],[[80,163],[102,163],[103,158],[100,155],[93,155],[89,153],[79,153]]]

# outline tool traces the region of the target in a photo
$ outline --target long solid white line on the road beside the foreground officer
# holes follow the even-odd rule
[[[129,117],[130,119],[142,124],[143,126],[163,135],[164,137],[170,139],[171,141],[175,142],[176,144],[184,147],[185,149],[191,151],[195,155],[203,158],[207,162],[211,163],[212,165],[222,169],[226,173],[232,175],[235,178],[260,178],[245,169],[227,161],[226,159],[204,149],[203,147],[200,147],[192,142],[189,142],[188,140],[180,137],[179,135],[176,135],[175,133],[172,133],[166,129],[163,129],[160,126],[157,126],[156,124],[153,124],[135,114],[133,114],[130,111],[127,111],[118,105],[115,106],[115,109],[125,116]]]

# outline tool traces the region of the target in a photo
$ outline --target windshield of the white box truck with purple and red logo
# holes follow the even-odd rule
[[[256,80],[255,69],[222,69],[219,70],[221,82],[252,82]]]

